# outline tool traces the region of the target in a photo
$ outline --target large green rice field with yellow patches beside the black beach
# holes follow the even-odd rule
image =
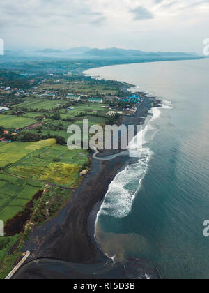
[[[79,171],[86,163],[87,151],[70,151],[66,146],[54,144],[52,147],[44,147],[29,153],[6,168],[6,171],[28,179],[74,186],[79,179]]]

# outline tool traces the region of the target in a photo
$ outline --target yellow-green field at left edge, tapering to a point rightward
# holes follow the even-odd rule
[[[42,140],[40,142],[11,142],[10,144],[0,143],[0,167],[6,167],[10,163],[15,163],[29,153],[37,149],[56,144],[56,140]]]

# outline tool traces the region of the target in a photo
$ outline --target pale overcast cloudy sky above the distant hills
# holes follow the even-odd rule
[[[123,47],[202,52],[209,0],[6,0],[6,49]]]

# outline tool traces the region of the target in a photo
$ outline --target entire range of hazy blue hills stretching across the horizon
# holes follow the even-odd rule
[[[125,50],[117,47],[107,49],[92,49],[90,47],[72,47],[68,50],[55,50],[46,48],[37,51],[5,51],[6,57],[47,57],[47,58],[67,58],[67,59],[92,59],[104,61],[120,61],[125,63],[132,62],[152,62],[169,61],[183,59],[199,59],[201,56],[192,52],[144,52],[141,50]],[[1,58],[2,59],[2,58]],[[107,64],[107,62],[105,63]]]

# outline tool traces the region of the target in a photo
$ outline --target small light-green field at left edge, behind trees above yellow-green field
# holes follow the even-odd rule
[[[3,126],[6,129],[24,128],[33,123],[36,123],[36,120],[32,118],[17,117],[13,115],[0,115],[0,126]]]

